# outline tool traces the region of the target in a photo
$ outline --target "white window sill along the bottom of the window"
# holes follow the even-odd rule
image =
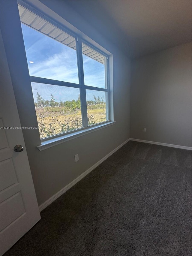
[[[42,151],[44,149],[48,149],[48,148],[51,148],[51,147],[56,146],[58,144],[61,144],[65,141],[73,140],[75,138],[78,138],[78,137],[83,136],[85,134],[91,133],[93,131],[100,130],[102,128],[108,127],[108,126],[113,125],[113,124],[115,124],[115,122],[110,121],[110,122],[107,122],[107,123],[104,123],[104,124],[99,124],[97,126],[88,127],[88,128],[83,129],[81,131],[74,131],[73,133],[70,133],[70,134],[64,134],[64,135],[61,135],[59,137],[50,138],[50,139],[42,141],[41,145],[37,146],[37,148],[39,149],[39,151]]]

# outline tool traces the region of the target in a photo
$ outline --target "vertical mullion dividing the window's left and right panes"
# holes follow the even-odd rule
[[[86,101],[86,91],[85,91],[84,73],[83,73],[82,44],[81,44],[80,38],[76,39],[76,53],[77,53],[77,66],[78,66],[79,85],[80,85],[82,124],[83,124],[83,127],[88,127],[87,101]]]

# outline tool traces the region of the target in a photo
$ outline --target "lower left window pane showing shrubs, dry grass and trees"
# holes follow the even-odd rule
[[[78,88],[31,84],[41,138],[82,127]]]

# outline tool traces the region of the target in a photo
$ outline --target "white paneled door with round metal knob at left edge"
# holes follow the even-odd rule
[[[5,127],[12,127],[6,129]],[[40,219],[0,31],[0,255]],[[20,144],[22,152],[15,152]]]

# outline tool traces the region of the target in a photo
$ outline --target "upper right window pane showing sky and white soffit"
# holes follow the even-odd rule
[[[105,83],[105,59],[100,53],[82,44],[85,85],[107,88]]]

